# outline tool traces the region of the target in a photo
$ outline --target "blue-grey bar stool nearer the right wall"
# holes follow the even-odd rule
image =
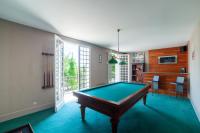
[[[176,86],[176,96],[177,93],[183,94],[183,89],[184,89],[184,77],[177,77],[176,82],[171,82],[171,84]]]

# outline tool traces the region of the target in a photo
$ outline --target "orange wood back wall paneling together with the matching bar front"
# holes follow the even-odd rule
[[[158,64],[159,56],[177,55],[177,64]],[[185,68],[188,72],[188,52],[181,52],[180,47],[149,50],[149,72],[143,74],[143,82],[152,81],[154,75],[160,76],[159,93],[175,95],[175,82],[178,76],[185,77],[185,87],[183,96],[187,97],[189,89],[188,73],[181,74],[180,68]]]

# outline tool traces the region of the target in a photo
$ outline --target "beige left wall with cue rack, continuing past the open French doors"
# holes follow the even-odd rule
[[[91,46],[91,86],[107,83],[107,49],[64,38]],[[53,33],[0,19],[0,122],[54,105],[54,89],[41,88],[41,53],[46,48],[54,51]]]

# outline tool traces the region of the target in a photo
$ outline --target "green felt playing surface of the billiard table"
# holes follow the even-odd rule
[[[82,90],[81,92],[104,100],[119,102],[129,95],[143,89],[144,87],[145,84],[119,82],[92,89]]]

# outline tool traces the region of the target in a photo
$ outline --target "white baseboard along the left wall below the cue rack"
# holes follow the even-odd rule
[[[38,111],[41,111],[41,110],[44,110],[44,109],[48,109],[48,108],[51,108],[53,106],[54,106],[53,103],[48,103],[48,104],[33,106],[33,107],[30,107],[30,108],[25,108],[25,109],[18,110],[18,111],[15,111],[15,112],[3,114],[3,115],[0,115],[0,122],[11,120],[11,119],[21,117],[21,116],[24,116],[24,115],[27,115],[27,114],[31,114],[31,113],[34,113],[34,112],[38,112]]]

